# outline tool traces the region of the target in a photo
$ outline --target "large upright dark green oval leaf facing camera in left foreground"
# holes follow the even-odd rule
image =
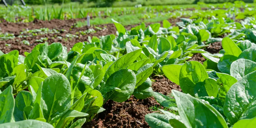
[[[70,96],[71,87],[63,74],[53,74],[43,81],[42,99],[47,108],[42,109],[47,122],[70,107]]]

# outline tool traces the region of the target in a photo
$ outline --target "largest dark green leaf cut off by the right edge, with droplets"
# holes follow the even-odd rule
[[[232,85],[226,95],[224,114],[233,125],[240,119],[256,116],[256,71],[249,73]]]

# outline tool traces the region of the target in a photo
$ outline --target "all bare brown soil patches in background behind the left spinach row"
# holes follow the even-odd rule
[[[72,48],[72,46],[77,43],[77,42],[84,42],[88,41],[88,36],[102,36],[102,35],[110,35],[110,34],[116,34],[116,27],[114,24],[104,24],[104,25],[97,25],[97,27],[104,28],[102,30],[97,30],[93,26],[91,27],[72,27],[76,21],[80,20],[85,20],[85,19],[70,19],[70,20],[51,20],[51,21],[39,21],[39,20],[34,20],[33,23],[0,23],[0,27],[2,29],[2,32],[9,32],[9,33],[14,33],[16,36],[14,39],[9,39],[9,40],[0,40],[0,50],[4,53],[9,53],[10,51],[13,50],[18,50],[20,55],[24,55],[24,52],[31,52],[32,49],[35,47],[35,45],[41,43],[37,42],[37,39],[40,38],[45,38],[47,37],[48,40],[47,42],[49,44],[53,42],[60,42],[64,46],[66,46],[68,49]],[[180,19],[169,19],[169,21],[175,25],[175,22],[179,22]],[[146,25],[150,25],[151,23],[147,23]],[[161,25],[163,23],[161,22]],[[136,27],[137,25],[129,25],[125,26],[127,30],[130,30],[132,27]],[[23,31],[23,29],[39,29],[42,27],[47,27],[49,29],[56,29],[56,30],[61,30],[64,29],[66,31],[61,31],[61,33],[58,34],[45,34],[45,35],[38,35],[38,36],[32,36],[32,37],[23,37],[23,38],[18,38],[17,36],[19,35],[19,32]],[[66,34],[72,34],[76,35],[76,32],[79,31],[85,31],[88,30],[89,28],[93,28],[96,33],[89,33],[87,35],[78,35],[79,37],[76,38],[66,38]],[[63,37],[62,39],[57,38],[57,36]],[[53,39],[52,39],[53,37]],[[26,45],[21,43],[23,40],[27,40],[30,45]],[[6,44],[10,44],[10,46],[6,46]]]

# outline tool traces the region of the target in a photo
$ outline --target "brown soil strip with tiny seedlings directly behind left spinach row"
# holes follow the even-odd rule
[[[41,42],[37,42],[37,39],[40,38],[45,38],[47,37],[48,40],[47,42],[49,44],[53,43],[53,42],[60,42],[62,43],[64,46],[66,46],[68,49],[72,48],[72,46],[77,43],[77,42],[84,42],[88,40],[88,36],[101,36],[101,35],[109,35],[109,34],[114,34],[116,32],[116,28],[114,26],[114,24],[106,24],[106,25],[99,25],[98,27],[105,27],[107,29],[103,29],[103,30],[96,30],[93,27],[81,27],[81,28],[72,28],[70,30],[71,27],[68,27],[67,31],[62,32],[62,33],[58,33],[58,34],[45,34],[45,35],[38,35],[38,36],[32,36],[32,37],[23,37],[23,38],[18,38],[15,37],[14,39],[9,39],[9,40],[0,40],[0,50],[4,53],[8,53],[10,51],[13,50],[18,50],[19,54],[23,55],[24,52],[31,52],[31,50],[35,47],[35,45],[41,43]],[[72,35],[76,35],[76,32],[78,31],[85,31],[88,30],[89,28],[93,28],[94,30],[96,30],[96,33],[90,33],[87,35],[78,35],[79,37],[76,38],[66,38],[65,35],[66,34],[72,34]],[[63,37],[62,39],[57,38],[57,36],[61,36]],[[52,39],[52,37],[54,37],[54,39]],[[71,40],[70,40],[71,39]],[[26,45],[26,44],[22,44],[22,40],[27,40],[29,41],[30,45]],[[10,44],[10,46],[5,46],[5,44]]]

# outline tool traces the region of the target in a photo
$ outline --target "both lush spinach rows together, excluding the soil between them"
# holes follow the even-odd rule
[[[25,56],[0,51],[0,127],[81,127],[105,110],[106,101],[131,95],[154,96],[179,112],[146,115],[153,128],[228,127],[254,118],[255,19],[181,20],[177,27],[164,20],[163,27],[142,23],[127,31],[112,19],[116,35],[89,37],[69,52],[47,42]],[[219,41],[220,53],[204,50]],[[195,53],[206,61],[187,62]],[[171,97],[153,92],[152,73],[180,85],[184,93],[172,91],[177,107],[170,107]]]

